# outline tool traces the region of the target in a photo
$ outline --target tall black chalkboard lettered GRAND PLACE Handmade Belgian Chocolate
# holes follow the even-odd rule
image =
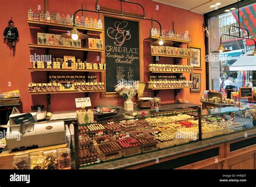
[[[104,17],[106,93],[114,86],[140,80],[139,75],[139,22]]]

